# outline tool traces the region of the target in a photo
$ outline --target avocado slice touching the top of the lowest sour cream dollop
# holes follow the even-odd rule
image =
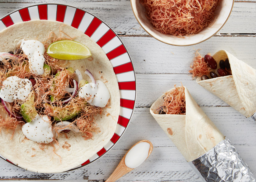
[[[34,120],[37,116],[37,110],[34,106],[34,98],[34,92],[30,92],[26,102],[24,102],[20,107],[20,113],[23,116],[24,120],[27,121],[27,123]]]

